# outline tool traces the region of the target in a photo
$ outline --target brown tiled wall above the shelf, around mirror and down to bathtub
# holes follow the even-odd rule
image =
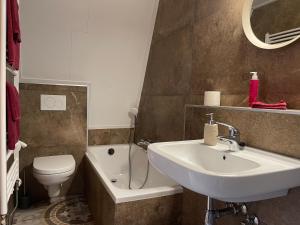
[[[244,2],[160,1],[139,138],[180,139],[184,105],[202,104],[206,90],[220,90],[222,105],[246,106],[250,71],[260,73],[261,100],[285,99],[300,108],[300,42],[273,51],[253,46],[242,29]]]

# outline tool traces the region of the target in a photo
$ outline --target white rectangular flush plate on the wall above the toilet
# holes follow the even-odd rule
[[[41,95],[41,110],[65,111],[67,99],[65,95]]]

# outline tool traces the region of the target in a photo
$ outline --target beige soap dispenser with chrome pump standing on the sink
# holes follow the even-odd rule
[[[218,124],[214,121],[214,114],[209,113],[206,114],[210,117],[210,120],[208,123],[205,123],[204,125],[204,144],[214,146],[217,145],[217,139],[218,139]]]

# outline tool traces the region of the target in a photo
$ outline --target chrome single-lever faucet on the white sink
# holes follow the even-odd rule
[[[218,139],[221,142],[224,142],[229,145],[230,150],[238,151],[243,150],[245,147],[245,143],[240,141],[240,131],[226,123],[216,122],[216,124],[227,127],[228,128],[228,136],[218,136]]]

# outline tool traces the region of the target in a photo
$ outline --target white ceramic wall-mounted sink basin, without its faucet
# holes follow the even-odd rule
[[[300,160],[245,147],[207,146],[203,140],[148,147],[150,163],[182,186],[226,202],[250,202],[286,195],[300,186]]]

